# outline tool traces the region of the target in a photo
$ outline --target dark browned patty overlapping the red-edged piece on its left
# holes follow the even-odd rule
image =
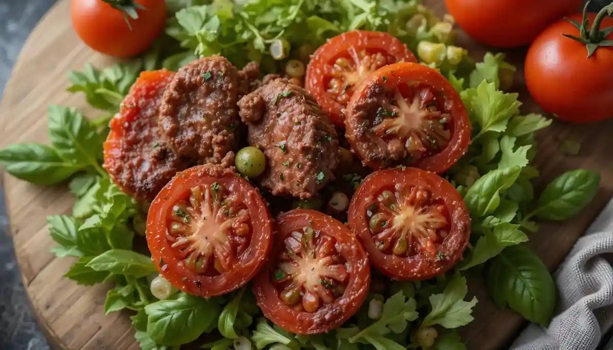
[[[181,67],[160,107],[159,125],[173,152],[202,164],[231,166],[240,123],[238,90],[243,84],[236,67],[221,56]]]

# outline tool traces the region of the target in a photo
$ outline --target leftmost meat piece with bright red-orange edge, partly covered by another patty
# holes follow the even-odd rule
[[[121,190],[135,199],[153,201],[188,162],[167,147],[158,127],[158,108],[174,73],[142,72],[110,122],[104,143],[104,168]]]

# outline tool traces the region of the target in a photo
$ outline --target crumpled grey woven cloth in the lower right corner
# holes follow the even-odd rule
[[[549,327],[530,324],[512,350],[595,350],[613,327],[613,201],[555,273],[558,307]],[[613,343],[609,343],[613,348]]]

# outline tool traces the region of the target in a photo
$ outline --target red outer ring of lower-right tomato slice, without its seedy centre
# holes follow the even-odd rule
[[[441,261],[421,259],[419,255],[403,258],[386,255],[376,247],[368,228],[369,220],[364,213],[365,203],[381,188],[401,183],[427,188],[433,195],[443,199],[451,219],[449,236],[441,244],[441,248],[444,247],[449,253],[447,258]],[[364,179],[349,204],[349,227],[364,245],[373,267],[397,280],[417,281],[442,275],[462,259],[470,238],[470,215],[462,195],[442,177],[417,168],[395,168],[375,171]]]

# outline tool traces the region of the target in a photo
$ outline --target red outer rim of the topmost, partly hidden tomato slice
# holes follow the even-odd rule
[[[315,51],[307,66],[305,89],[313,95],[321,109],[329,113],[332,122],[340,128],[345,127],[345,117],[343,116],[345,106],[327,95],[324,86],[326,76],[324,67],[349,48],[357,48],[358,50],[370,48],[377,51],[386,51],[398,62],[417,62],[415,55],[406,45],[386,32],[350,31],[337,35],[321,45]]]

